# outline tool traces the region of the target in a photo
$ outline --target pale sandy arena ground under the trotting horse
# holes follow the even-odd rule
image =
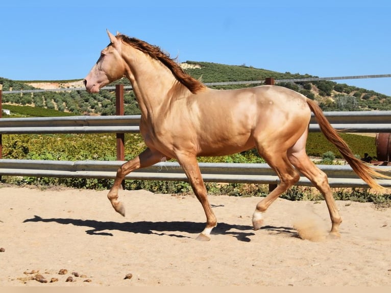
[[[391,209],[338,201],[344,222],[332,240],[324,202],[278,199],[254,231],[260,198],[211,196],[219,224],[202,242],[194,196],[121,191],[122,217],[106,194],[0,184],[0,286],[391,285]]]

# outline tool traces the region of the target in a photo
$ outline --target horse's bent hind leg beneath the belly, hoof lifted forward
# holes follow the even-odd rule
[[[263,225],[262,214],[266,209],[290,186],[295,184],[299,178],[299,173],[295,168],[290,164],[286,153],[281,152],[272,152],[272,156],[267,156],[262,154],[262,157],[277,173],[280,178],[280,183],[278,186],[269,193],[263,200],[261,200],[254,211],[253,214],[253,227],[254,230],[258,230]]]

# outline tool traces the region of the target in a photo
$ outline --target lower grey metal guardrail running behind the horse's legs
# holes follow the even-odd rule
[[[56,178],[106,178],[114,179],[123,161],[50,161],[0,159],[3,176],[31,176]],[[249,163],[199,163],[205,182],[278,184],[276,173],[267,164]],[[362,181],[349,165],[318,165],[328,176],[331,187],[363,187]],[[382,172],[389,167],[378,166]],[[181,166],[176,162],[160,162],[153,166],[134,170],[127,180],[187,181]],[[379,180],[384,187],[391,187],[391,180]],[[312,186],[305,177],[296,185]]]

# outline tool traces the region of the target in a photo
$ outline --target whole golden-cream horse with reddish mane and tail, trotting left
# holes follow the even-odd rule
[[[357,159],[331,127],[317,104],[304,95],[278,86],[214,90],[193,79],[159,47],[107,31],[110,44],[84,79],[88,92],[122,77],[130,80],[141,110],[140,132],[147,145],[136,158],[117,171],[108,198],[125,215],[118,189],[135,169],[176,159],[206,215],[206,227],[197,237],[209,240],[217,225],[209,205],[197,156],[230,155],[256,148],[277,173],[280,183],[262,199],[253,214],[255,230],[262,213],[290,186],[306,176],[323,194],[331,218],[330,235],[339,236],[342,222],[327,176],[308,158],[305,146],[311,111],[322,132],[368,185],[382,187],[374,178],[386,176]]]

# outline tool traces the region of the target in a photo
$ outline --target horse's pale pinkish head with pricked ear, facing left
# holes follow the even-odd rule
[[[126,63],[121,57],[122,42],[108,30],[107,34],[110,38],[110,44],[102,50],[101,57],[84,79],[84,85],[88,92],[99,92],[105,85],[125,75]]]

